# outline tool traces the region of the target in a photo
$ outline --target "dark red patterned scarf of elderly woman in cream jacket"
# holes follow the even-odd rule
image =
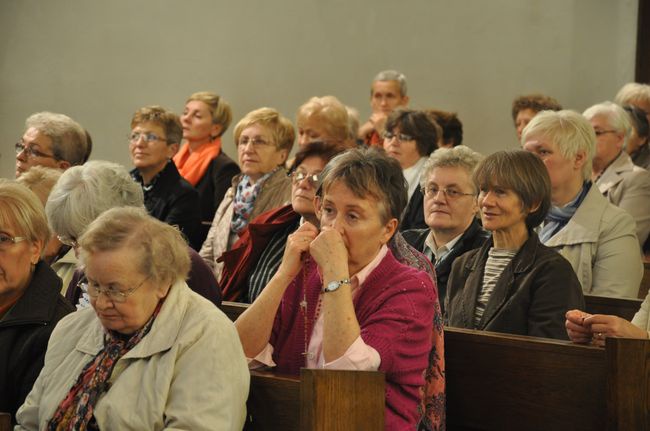
[[[160,301],[147,323],[128,340],[120,334],[106,330],[104,348],[86,364],[47,424],[48,431],[86,430],[94,420],[94,409],[101,395],[108,391],[108,380],[117,361],[135,347],[149,333],[160,307]]]

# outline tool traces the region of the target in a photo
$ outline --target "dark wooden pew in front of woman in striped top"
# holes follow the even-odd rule
[[[650,341],[445,329],[448,430],[648,430]]]

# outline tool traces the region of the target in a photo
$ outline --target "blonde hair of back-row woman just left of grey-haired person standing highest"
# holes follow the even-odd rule
[[[331,138],[334,144],[341,144],[348,139],[348,111],[334,96],[312,97],[305,102],[296,114],[296,125],[310,119],[316,120]]]

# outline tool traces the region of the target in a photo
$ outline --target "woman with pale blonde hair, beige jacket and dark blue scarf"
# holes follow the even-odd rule
[[[539,232],[542,243],[571,263],[585,294],[636,298],[643,276],[636,226],[591,182],[591,124],[577,112],[543,111],[528,123],[521,143],[551,177],[553,205]]]

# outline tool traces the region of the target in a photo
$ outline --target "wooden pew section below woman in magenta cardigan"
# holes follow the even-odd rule
[[[251,372],[245,430],[383,430],[384,374],[313,370],[300,378]]]

